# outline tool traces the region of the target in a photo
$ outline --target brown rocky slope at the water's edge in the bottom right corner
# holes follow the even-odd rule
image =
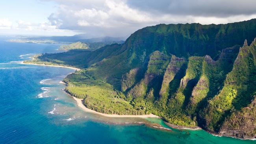
[[[247,107],[226,118],[219,134],[243,139],[256,138],[256,96]]]

